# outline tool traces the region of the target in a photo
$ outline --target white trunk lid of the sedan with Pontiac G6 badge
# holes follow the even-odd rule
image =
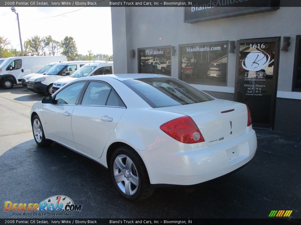
[[[190,116],[201,131],[207,145],[214,145],[246,132],[245,104],[215,99],[203,103],[156,108],[156,110]]]

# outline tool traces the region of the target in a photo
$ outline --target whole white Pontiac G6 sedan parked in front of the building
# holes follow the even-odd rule
[[[35,103],[31,123],[39,146],[55,141],[102,164],[129,200],[150,196],[154,184],[230,173],[257,148],[245,104],[158,74],[79,78]]]

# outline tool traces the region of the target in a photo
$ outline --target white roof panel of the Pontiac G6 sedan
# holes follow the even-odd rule
[[[107,74],[107,75],[97,75],[80,78],[82,80],[101,80],[103,77],[114,78],[119,81],[139,79],[139,78],[171,78],[170,76],[161,75],[161,74],[152,74],[152,73],[124,73],[124,74]]]

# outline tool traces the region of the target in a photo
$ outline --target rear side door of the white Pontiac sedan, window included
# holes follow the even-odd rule
[[[77,150],[100,158],[108,138],[126,108],[115,90],[107,83],[92,81],[71,118]]]

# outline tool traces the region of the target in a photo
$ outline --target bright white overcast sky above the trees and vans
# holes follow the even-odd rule
[[[76,42],[79,54],[86,55],[89,50],[92,50],[94,54],[113,54],[111,8],[109,7],[15,8],[19,14],[23,44],[34,35],[40,37],[51,35],[57,41],[71,36]],[[20,50],[16,14],[11,11],[10,7],[0,7],[0,18],[0,36],[8,38],[13,48]]]

